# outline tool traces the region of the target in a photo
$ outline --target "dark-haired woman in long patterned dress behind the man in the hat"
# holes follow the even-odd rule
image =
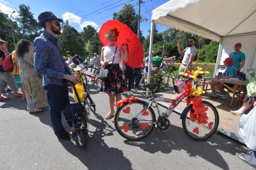
[[[19,74],[25,88],[27,109],[30,114],[42,112],[48,106],[42,77],[34,70],[34,47],[29,40],[19,40],[16,45]]]

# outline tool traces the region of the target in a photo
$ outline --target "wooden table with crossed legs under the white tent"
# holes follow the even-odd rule
[[[230,90],[233,93],[231,105],[232,108],[234,103],[234,97],[237,96],[237,102],[239,101],[240,94],[243,90],[245,90],[246,82],[243,82],[242,80],[229,80],[229,79],[212,79],[212,81],[221,83],[224,87],[226,87],[228,90]],[[230,87],[229,84],[233,84],[234,87]],[[244,91],[245,93],[245,91]]]

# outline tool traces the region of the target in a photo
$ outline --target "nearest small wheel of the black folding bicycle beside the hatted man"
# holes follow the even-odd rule
[[[85,115],[87,113],[84,113],[84,116],[81,118],[78,118],[76,123],[76,133],[77,133],[77,139],[75,141],[75,144],[80,149],[86,148],[87,144],[87,135],[88,135],[88,120],[87,116]]]

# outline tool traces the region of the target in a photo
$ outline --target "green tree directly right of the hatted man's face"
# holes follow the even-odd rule
[[[58,36],[58,40],[63,52],[69,50],[72,55],[77,54],[84,57],[83,41],[80,34],[68,22],[63,23],[63,32]]]

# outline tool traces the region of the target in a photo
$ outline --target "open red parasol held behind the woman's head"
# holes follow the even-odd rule
[[[137,35],[134,34],[134,32],[131,31],[131,29],[124,23],[119,22],[118,20],[108,20],[107,22],[105,22],[101,26],[101,29],[99,29],[99,39],[101,40],[101,43],[104,46],[108,45],[108,41],[105,38],[105,33],[109,29],[113,28],[117,28],[117,31],[119,32],[116,45],[122,46],[123,43],[128,44],[129,58],[128,61],[125,62],[125,64],[133,68],[139,67],[143,61],[142,44],[140,43],[139,38],[137,38]]]

